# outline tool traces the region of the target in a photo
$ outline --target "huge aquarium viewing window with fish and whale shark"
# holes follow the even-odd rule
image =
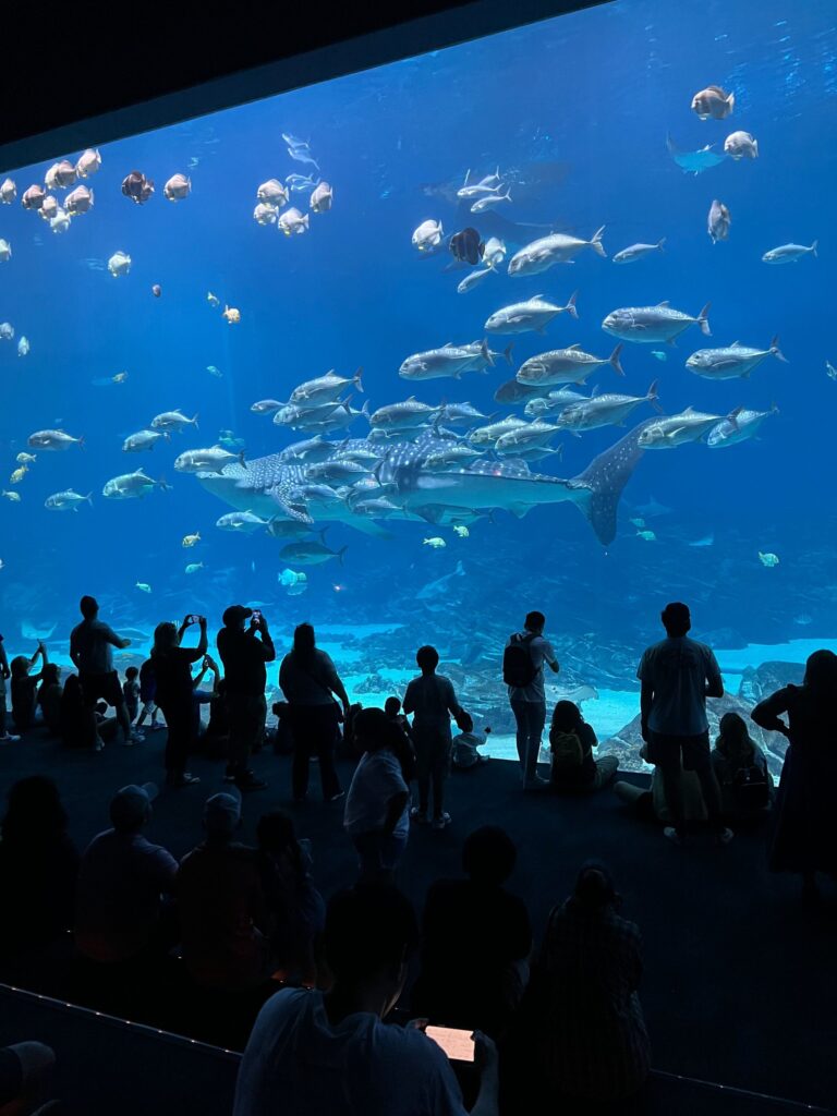
[[[821,2],[618,0],[3,167],[10,654],[67,665],[83,593],[121,667],[242,602],[365,704],[435,644],[513,757],[539,608],[628,768],[667,600],[713,718],[798,681],[837,646],[836,46]]]

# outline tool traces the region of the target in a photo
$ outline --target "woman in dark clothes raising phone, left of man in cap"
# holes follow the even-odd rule
[[[200,626],[196,647],[181,647],[185,631]],[[151,660],[156,679],[157,705],[163,710],[169,727],[165,745],[165,781],[170,787],[189,787],[200,782],[198,776],[186,771],[189,753],[194,745],[194,714],[192,700],[192,663],[206,654],[206,617],[190,614],[180,627],[171,620],[157,624]]]

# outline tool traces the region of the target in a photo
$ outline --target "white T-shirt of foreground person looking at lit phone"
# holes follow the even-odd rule
[[[372,1012],[331,1024],[321,992],[285,989],[259,1012],[233,1116],[466,1116],[448,1058]]]

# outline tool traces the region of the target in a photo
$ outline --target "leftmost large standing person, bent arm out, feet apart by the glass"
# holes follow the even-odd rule
[[[70,658],[78,668],[78,680],[85,706],[88,710],[90,727],[96,735],[96,751],[105,747],[96,728],[96,703],[100,701],[113,705],[116,720],[123,732],[126,744],[142,740],[131,730],[125,695],[122,692],[119,675],[114,670],[113,648],[131,646],[131,639],[123,639],[113,628],[99,618],[99,606],[95,597],[81,597],[79,603],[84,619],[73,628],[70,634]]]

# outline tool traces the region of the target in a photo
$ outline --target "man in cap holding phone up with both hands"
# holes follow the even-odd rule
[[[250,623],[246,625],[246,622]],[[248,767],[250,752],[264,737],[268,706],[264,687],[268,684],[267,663],[276,658],[268,622],[262,614],[244,605],[230,605],[223,614],[224,626],[218,633],[218,653],[224,665],[227,715],[230,729],[230,751],[227,782],[239,790],[262,790],[263,779],[257,779]]]

